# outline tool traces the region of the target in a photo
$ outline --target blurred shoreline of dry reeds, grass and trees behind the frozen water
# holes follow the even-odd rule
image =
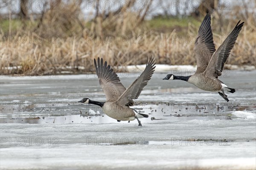
[[[215,47],[244,21],[227,64],[256,65],[255,0],[0,0],[1,74],[71,74],[112,66],[196,65],[193,51],[205,14]]]

